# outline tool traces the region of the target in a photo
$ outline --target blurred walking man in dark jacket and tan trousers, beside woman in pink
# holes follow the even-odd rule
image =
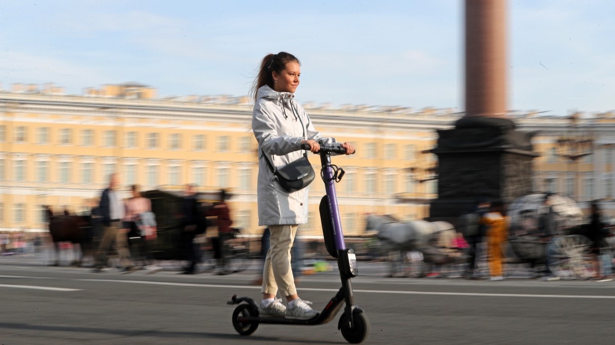
[[[122,226],[124,205],[118,195],[116,173],[109,176],[109,187],[103,190],[98,208],[102,217],[103,234],[95,257],[94,271],[102,272],[103,266],[108,263],[108,253],[114,243],[122,266],[122,273],[135,271],[128,249],[128,238],[126,236],[128,230]]]

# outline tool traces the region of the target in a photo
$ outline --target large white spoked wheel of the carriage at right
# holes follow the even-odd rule
[[[586,278],[593,274],[592,242],[581,235],[561,236],[549,245],[549,268],[558,277]]]

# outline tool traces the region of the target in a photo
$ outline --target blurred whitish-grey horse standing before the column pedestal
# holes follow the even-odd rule
[[[451,246],[456,231],[447,222],[400,222],[390,215],[370,214],[366,219],[366,230],[376,230],[383,250],[397,257],[391,263],[391,276],[397,275],[406,252],[421,252],[424,262],[435,265],[456,262],[460,256],[459,250]]]

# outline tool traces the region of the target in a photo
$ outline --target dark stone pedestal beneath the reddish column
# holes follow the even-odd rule
[[[429,220],[456,223],[480,200],[505,204],[531,192],[531,138],[507,118],[464,117],[438,131],[438,198]]]

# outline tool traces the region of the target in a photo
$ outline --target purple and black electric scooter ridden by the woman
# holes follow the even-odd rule
[[[308,145],[301,145],[301,149],[309,150]],[[283,324],[283,325],[321,325],[333,320],[339,309],[346,304],[344,312],[339,318],[338,330],[341,330],[344,339],[349,343],[358,344],[367,339],[370,333],[370,321],[363,309],[354,304],[351,278],[356,277],[357,258],[354,250],[346,249],[344,234],[342,233],[339,217],[338,199],[335,192],[335,182],[339,182],[344,176],[344,169],[331,164],[331,153],[346,153],[346,149],[339,144],[320,145],[318,154],[322,169],[320,177],[325,183],[327,195],[320,200],[320,221],[322,233],[325,239],[327,252],[337,258],[339,277],[342,286],[335,297],[331,298],[317,316],[311,319],[290,319],[279,316],[259,316],[258,304],[249,297],[237,297],[234,295],[227,304],[239,304],[232,313],[232,325],[240,335],[252,334],[260,324]]]

